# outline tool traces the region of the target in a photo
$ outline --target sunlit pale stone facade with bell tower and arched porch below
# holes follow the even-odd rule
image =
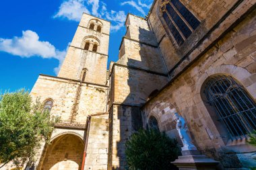
[[[106,169],[109,30],[109,22],[84,13],[58,77],[38,77],[30,95],[42,103],[51,99],[51,116],[61,118],[61,122],[55,125],[51,143],[42,144],[37,169],[81,169],[83,160],[84,169]],[[90,43],[87,50],[86,42]]]

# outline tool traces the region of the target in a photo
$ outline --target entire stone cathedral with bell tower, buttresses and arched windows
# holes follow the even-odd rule
[[[255,3],[155,0],[145,18],[127,15],[109,68],[110,22],[84,13],[59,75],[40,75],[30,93],[61,119],[36,169],[123,170],[139,128],[179,138],[172,108],[218,169],[256,167]]]

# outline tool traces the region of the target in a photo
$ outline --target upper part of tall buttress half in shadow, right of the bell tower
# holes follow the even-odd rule
[[[154,33],[146,19],[127,15],[127,34],[123,38],[117,63],[166,74]]]

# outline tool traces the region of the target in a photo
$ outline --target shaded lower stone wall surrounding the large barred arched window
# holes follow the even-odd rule
[[[221,125],[212,120],[207,104],[205,105],[202,99],[202,87],[205,80],[212,75],[230,75],[245,87],[253,99],[256,98],[255,13],[256,11],[253,11],[248,15],[185,72],[170,81],[157,97],[146,103],[143,108],[144,126],[148,116],[154,115],[162,130],[170,132],[174,129],[170,116],[154,113],[158,103],[168,103],[170,107],[177,108],[187,120],[193,142],[202,153],[222,161],[224,167],[242,166],[237,160],[240,159],[243,163],[245,157],[241,155],[255,152],[256,148],[247,144],[245,138],[239,141],[226,140],[225,136],[220,135],[217,127]],[[210,138],[209,132],[214,138]]]

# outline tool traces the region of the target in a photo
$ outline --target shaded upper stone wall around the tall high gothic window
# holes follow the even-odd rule
[[[231,24],[240,18],[254,1],[185,1],[181,3],[197,17],[201,24],[181,46],[178,46],[174,38],[170,36],[168,28],[159,14],[160,1],[154,3],[150,11],[149,24],[154,30],[157,42],[166,61],[168,71],[176,69],[174,75],[187,67],[189,62],[205,50],[218,36],[220,36]],[[236,4],[236,5],[235,5]],[[233,7],[234,6],[234,7]],[[232,12],[230,12],[232,11]],[[227,14],[227,15],[226,15]],[[218,23],[222,21],[222,24]],[[200,44],[200,46],[199,46]],[[186,58],[181,64],[179,61]],[[177,65],[179,63],[179,66]]]

